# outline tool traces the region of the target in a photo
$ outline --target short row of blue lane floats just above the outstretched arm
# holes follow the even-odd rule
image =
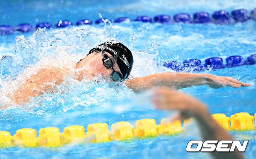
[[[172,69],[176,72],[181,71],[201,71],[207,69],[222,69],[226,67],[237,67],[242,65],[254,65],[256,64],[256,54],[250,55],[247,60],[243,59],[242,56],[235,55],[226,58],[226,64],[223,64],[223,59],[219,57],[207,58],[202,65],[199,59],[185,60],[183,63],[177,61],[167,61],[163,63],[164,67]]]

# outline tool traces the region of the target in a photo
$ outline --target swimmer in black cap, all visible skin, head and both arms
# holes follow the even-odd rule
[[[78,81],[85,77],[93,80],[95,76],[102,75],[105,79],[111,78],[115,81],[124,82],[134,92],[160,86],[168,86],[173,89],[197,85],[208,85],[211,88],[250,86],[250,84],[243,83],[232,77],[179,72],[163,72],[128,79],[132,65],[132,52],[120,42],[109,41],[91,49],[85,58],[76,63],[74,66],[76,69],[74,78]],[[69,76],[69,71],[65,67],[49,66],[42,68],[9,96],[17,105],[24,105],[30,101],[30,98],[51,92],[54,86],[47,83],[61,84]]]

